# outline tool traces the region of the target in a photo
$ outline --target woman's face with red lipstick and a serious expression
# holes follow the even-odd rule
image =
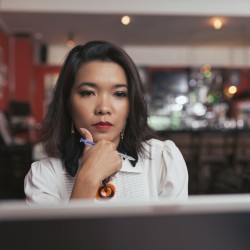
[[[105,139],[118,146],[129,112],[125,71],[114,62],[83,64],[76,74],[70,104],[78,130],[88,129],[94,142]]]

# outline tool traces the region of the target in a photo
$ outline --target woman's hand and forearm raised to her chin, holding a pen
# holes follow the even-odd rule
[[[86,140],[93,141],[88,130],[81,129],[81,134]],[[115,145],[106,140],[94,146],[85,145],[82,162],[71,198],[94,198],[101,181],[119,171],[122,166]]]

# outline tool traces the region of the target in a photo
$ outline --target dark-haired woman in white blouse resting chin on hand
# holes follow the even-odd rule
[[[48,158],[33,163],[25,178],[27,202],[186,199],[188,174],[180,151],[172,141],[153,138],[131,58],[104,41],[76,46],[45,117]]]

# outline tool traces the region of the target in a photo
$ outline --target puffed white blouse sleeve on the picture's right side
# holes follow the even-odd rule
[[[167,140],[162,149],[161,173],[159,174],[159,197],[188,198],[188,171],[185,160],[174,144]]]

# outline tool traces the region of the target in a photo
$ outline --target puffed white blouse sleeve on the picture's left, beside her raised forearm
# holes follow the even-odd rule
[[[24,180],[26,201],[29,204],[59,203],[59,177],[48,158],[32,163]]]

